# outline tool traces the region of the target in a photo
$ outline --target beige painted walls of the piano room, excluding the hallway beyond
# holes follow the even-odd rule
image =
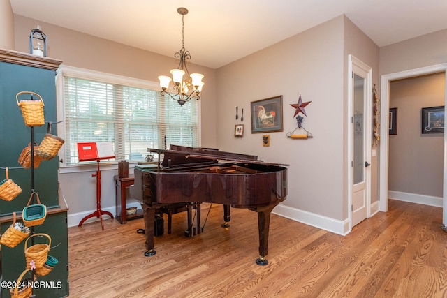
[[[29,31],[35,20],[15,15],[16,50],[27,52]],[[172,57],[145,52],[82,33],[40,24],[49,37],[50,57],[64,64],[156,81],[174,65]],[[353,54],[372,67],[373,83],[379,75],[447,61],[447,30],[378,49],[345,16],[318,25],[218,70],[193,66],[205,73],[202,101],[202,146],[256,154],[264,161],[290,164],[288,198],[283,203],[302,214],[344,222],[347,219],[347,59]],[[379,57],[380,60],[379,60]],[[175,66],[175,65],[174,65]],[[219,84],[217,84],[219,82]],[[377,86],[380,90],[380,87]],[[306,107],[303,126],[314,135],[291,140],[286,133],[296,128],[290,105],[312,101]],[[250,102],[282,95],[284,131],[270,134],[270,147],[262,134],[251,134]],[[244,108],[244,137],[234,137],[235,107]],[[303,133],[297,131],[295,133]],[[382,136],[383,137],[383,136]],[[376,153],[379,153],[377,148]],[[372,201],[377,195],[378,158],[372,158]],[[110,177],[112,177],[110,172]],[[86,176],[86,175],[84,175]],[[110,178],[109,177],[109,178]],[[92,198],[79,198],[79,177],[60,176],[72,200],[70,212],[94,209]],[[87,178],[83,178],[87,181]],[[81,197],[91,189],[82,188]],[[104,197],[103,197],[104,198]],[[115,205],[110,192],[105,207]],[[69,202],[70,204],[70,202]],[[74,207],[73,207],[74,206]]]

